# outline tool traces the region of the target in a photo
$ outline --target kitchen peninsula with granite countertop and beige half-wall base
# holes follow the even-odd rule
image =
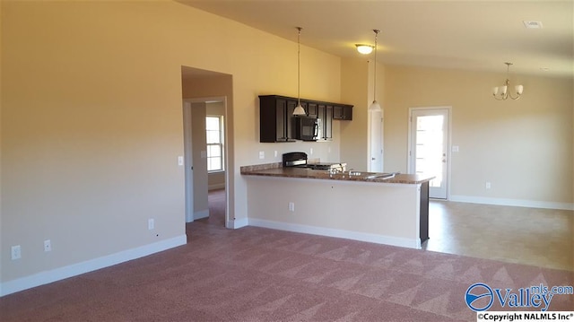
[[[432,177],[283,168],[281,162],[241,167],[248,225],[421,248],[429,239]]]

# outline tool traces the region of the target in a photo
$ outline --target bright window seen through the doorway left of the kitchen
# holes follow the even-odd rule
[[[207,132],[207,171],[222,171],[223,169],[223,117],[205,117]]]

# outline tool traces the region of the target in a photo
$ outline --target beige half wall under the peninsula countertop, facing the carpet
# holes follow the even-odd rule
[[[247,181],[249,225],[412,248],[418,240],[420,246],[418,185],[258,176]]]

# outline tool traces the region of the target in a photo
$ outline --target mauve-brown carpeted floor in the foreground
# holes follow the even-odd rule
[[[0,298],[7,321],[475,321],[473,283],[572,285],[574,272],[257,227],[222,209],[188,243]],[[551,310],[573,310],[555,295]],[[491,310],[512,310],[494,305]]]

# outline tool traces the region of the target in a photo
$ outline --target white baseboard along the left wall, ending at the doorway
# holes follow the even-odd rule
[[[171,239],[165,239],[138,248],[127,249],[115,254],[98,257],[85,262],[59,267],[53,270],[32,274],[12,281],[0,283],[0,297],[14,292],[20,292],[43,284],[63,280],[68,277],[88,273],[100,268],[117,265],[139,257],[152,255],[162,250],[175,248],[187,243],[187,236],[180,235]]]

